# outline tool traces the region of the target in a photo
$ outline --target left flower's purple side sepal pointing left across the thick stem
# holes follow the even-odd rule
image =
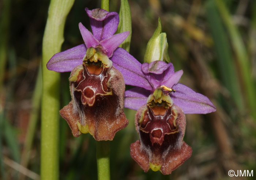
[[[54,54],[48,61],[46,67],[56,72],[69,72],[76,66],[83,63],[83,57],[86,54],[84,44],[72,47],[71,49]]]

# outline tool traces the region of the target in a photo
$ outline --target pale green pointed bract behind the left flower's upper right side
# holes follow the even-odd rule
[[[119,12],[119,24],[116,33],[129,31],[130,34],[124,40],[119,47],[130,51],[131,37],[132,37],[132,18],[131,10],[128,0],[121,0],[120,12]]]

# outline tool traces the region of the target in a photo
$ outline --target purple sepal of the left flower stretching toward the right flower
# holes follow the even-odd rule
[[[117,47],[110,60],[113,62],[113,66],[123,74],[125,84],[152,90],[151,85],[141,71],[140,62],[126,50]]]

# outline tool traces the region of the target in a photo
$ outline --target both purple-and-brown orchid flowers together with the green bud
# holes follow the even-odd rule
[[[114,35],[119,23],[116,12],[85,10],[93,33],[79,23],[84,44],[55,54],[47,64],[49,70],[71,71],[72,100],[60,115],[75,137],[90,133],[102,141],[112,140],[128,125],[124,107],[138,110],[135,127],[140,140],[131,144],[131,157],[145,172],[170,174],[192,154],[183,141],[185,114],[206,114],[216,108],[206,96],[178,83],[183,71],[174,72],[160,19],[140,64],[118,47],[129,31]],[[135,87],[125,91],[125,84]]]

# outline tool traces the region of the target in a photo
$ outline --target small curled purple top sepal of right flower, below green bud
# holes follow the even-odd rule
[[[153,61],[150,64],[145,62],[142,64],[141,69],[143,73],[162,74],[170,66],[172,66],[172,69],[174,72],[173,64],[172,63],[166,64],[163,61]]]

